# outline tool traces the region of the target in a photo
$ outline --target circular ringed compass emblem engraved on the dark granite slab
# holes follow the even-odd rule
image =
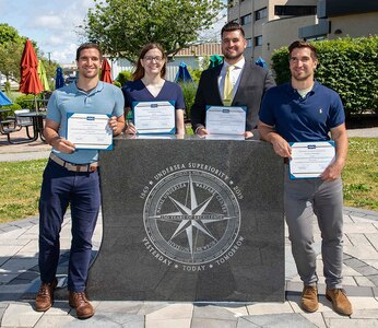
[[[151,190],[143,220],[151,243],[164,256],[199,265],[216,259],[233,245],[240,210],[222,179],[185,169],[166,176]]]

